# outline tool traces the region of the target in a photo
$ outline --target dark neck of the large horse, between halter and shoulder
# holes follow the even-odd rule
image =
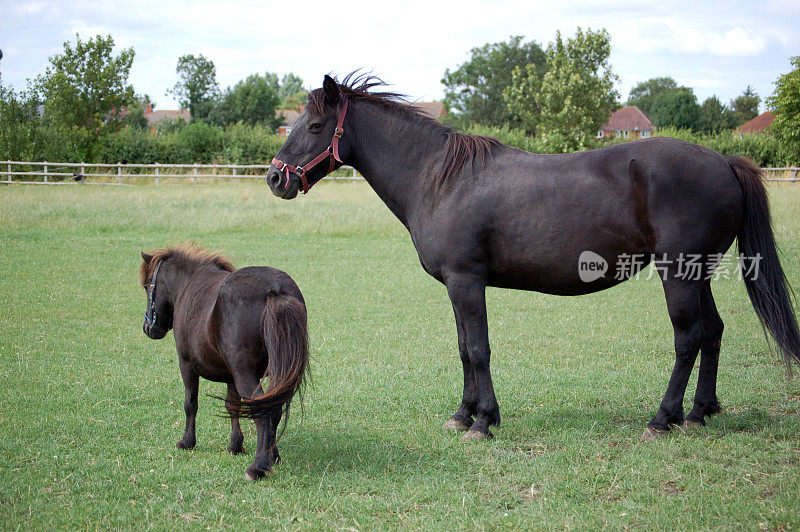
[[[376,104],[359,102],[354,111],[348,162],[407,226],[427,179],[441,164],[446,137],[430,125]]]

